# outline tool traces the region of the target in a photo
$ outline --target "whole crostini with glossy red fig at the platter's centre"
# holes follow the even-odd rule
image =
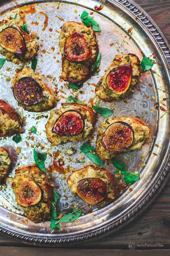
[[[92,132],[95,119],[95,113],[88,106],[62,103],[60,110],[50,111],[46,124],[47,139],[53,145],[81,142]]]

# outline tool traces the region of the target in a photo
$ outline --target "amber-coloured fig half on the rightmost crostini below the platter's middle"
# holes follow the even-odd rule
[[[125,122],[116,122],[109,125],[102,137],[103,147],[109,151],[122,151],[132,145],[134,132]]]

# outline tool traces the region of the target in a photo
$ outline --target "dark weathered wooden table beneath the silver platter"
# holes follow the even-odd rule
[[[170,42],[170,0],[135,0],[154,19]],[[159,197],[138,219],[126,228],[93,242],[68,246],[67,249],[33,248],[0,234],[0,255],[170,255],[170,180]],[[135,243],[134,250],[128,249]],[[139,247],[137,244],[150,244]],[[156,244],[164,246],[156,247]],[[27,248],[23,248],[27,247]],[[93,249],[93,250],[92,250]],[[138,250],[136,250],[138,249]],[[159,249],[162,249],[161,251]],[[147,251],[146,251],[147,250]]]

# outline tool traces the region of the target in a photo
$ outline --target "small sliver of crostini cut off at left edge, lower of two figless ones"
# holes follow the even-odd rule
[[[0,148],[0,183],[11,172],[11,156],[7,150]]]

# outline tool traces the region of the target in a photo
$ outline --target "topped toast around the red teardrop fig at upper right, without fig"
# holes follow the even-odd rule
[[[125,93],[116,94],[113,91],[111,91],[106,84],[107,75],[112,69],[122,65],[127,65],[129,63],[131,63],[132,71],[133,71],[132,81],[130,83],[130,86]],[[102,76],[100,81],[98,82],[95,93],[103,101],[111,102],[111,101],[122,100],[125,97],[127,97],[127,95],[131,93],[132,90],[134,89],[134,86],[139,81],[140,72],[141,72],[140,60],[135,54],[129,53],[129,54],[125,54],[124,56],[116,55],[114,60],[108,67],[107,71],[105,72],[104,76]]]

